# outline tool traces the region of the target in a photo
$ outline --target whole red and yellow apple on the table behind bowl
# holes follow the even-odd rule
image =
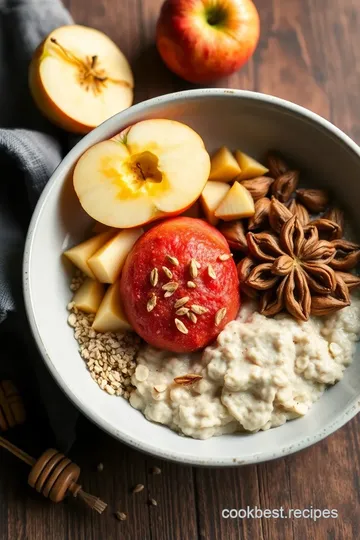
[[[207,21],[214,5],[226,13],[217,26]],[[166,0],[156,44],[169,69],[205,84],[240,69],[253,55],[259,36],[259,14],[251,0]]]

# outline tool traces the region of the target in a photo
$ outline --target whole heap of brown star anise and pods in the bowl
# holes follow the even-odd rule
[[[235,253],[241,289],[259,300],[267,316],[287,311],[307,320],[350,304],[360,286],[352,270],[360,246],[343,238],[344,213],[331,206],[323,189],[298,189],[300,173],[277,152],[268,154],[269,177],[241,183],[254,199],[247,220],[223,223],[220,230]]]

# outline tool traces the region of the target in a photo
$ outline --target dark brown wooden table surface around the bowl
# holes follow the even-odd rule
[[[134,69],[136,101],[190,88],[162,64],[154,27],[162,0],[66,0],[74,19],[103,30]],[[249,64],[219,86],[280,96],[321,114],[360,143],[359,0],[256,0],[261,41]],[[34,400],[26,434],[34,452],[49,445]],[[26,466],[0,452],[1,540],[322,540],[360,538],[360,418],[316,446],[277,461],[198,469],[145,456],[87,420],[71,456],[83,485],[109,503],[98,516],[73,501],[46,502],[26,486]],[[17,435],[15,436],[18,437]],[[103,472],[96,465],[104,464]],[[152,465],[162,474],[149,474]],[[137,484],[145,490],[130,493]],[[158,501],[149,507],[149,497]],[[337,519],[224,519],[224,508],[336,509]],[[121,510],[127,521],[112,512]]]

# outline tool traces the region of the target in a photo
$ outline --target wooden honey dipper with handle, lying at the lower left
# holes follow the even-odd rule
[[[50,448],[36,460],[1,436],[0,446],[32,467],[28,477],[29,485],[51,501],[60,502],[66,495],[72,495],[83,500],[99,514],[107,507],[101,499],[86,493],[81,485],[76,483],[80,476],[80,467],[58,450]]]

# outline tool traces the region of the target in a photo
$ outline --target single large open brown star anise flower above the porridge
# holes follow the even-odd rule
[[[320,239],[316,227],[304,231],[297,216],[292,216],[278,234],[249,232],[247,242],[250,257],[240,263],[239,276],[247,287],[262,292],[260,312],[264,315],[286,310],[306,321],[312,298],[313,312],[322,315],[349,305],[346,283],[330,266],[337,241]],[[242,265],[246,272],[241,271]]]

